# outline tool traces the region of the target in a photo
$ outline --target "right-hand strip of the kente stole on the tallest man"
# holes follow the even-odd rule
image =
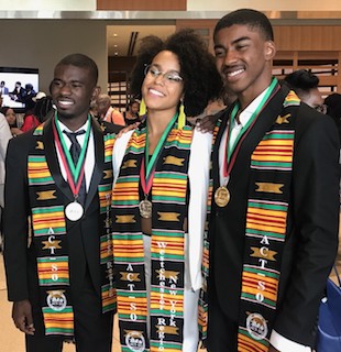
[[[268,351],[290,198],[295,123],[290,91],[251,156],[238,351]]]

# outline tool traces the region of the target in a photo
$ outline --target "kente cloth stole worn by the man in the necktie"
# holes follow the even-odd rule
[[[28,175],[32,210],[33,241],[37,253],[37,275],[46,336],[73,336],[74,312],[68,271],[67,220],[61,191],[48,169],[43,125],[35,129],[35,144],[29,152]],[[114,138],[105,140],[105,167],[98,186],[100,200],[100,261],[102,311],[116,309],[110,202]],[[81,220],[80,220],[81,221]]]

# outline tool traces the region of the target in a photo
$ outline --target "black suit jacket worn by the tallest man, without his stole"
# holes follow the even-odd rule
[[[251,154],[282,110],[282,88],[261,112],[232,168],[226,208],[212,205],[210,273],[223,312],[239,320],[241,274]],[[213,161],[213,193],[219,187],[219,145]],[[296,122],[293,184],[274,329],[289,340],[312,345],[318,307],[333,264],[339,231],[339,141],[333,121],[301,103]]]

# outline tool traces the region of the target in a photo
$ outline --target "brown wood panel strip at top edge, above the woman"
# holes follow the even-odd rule
[[[97,0],[97,10],[186,11],[187,0]]]

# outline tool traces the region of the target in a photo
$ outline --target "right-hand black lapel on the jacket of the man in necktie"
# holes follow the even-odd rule
[[[90,187],[87,194],[85,209],[87,210],[91,204],[94,196],[98,193],[98,185],[102,178],[103,165],[105,165],[105,143],[103,132],[100,125],[91,119],[94,143],[95,143],[95,167],[90,182]]]

